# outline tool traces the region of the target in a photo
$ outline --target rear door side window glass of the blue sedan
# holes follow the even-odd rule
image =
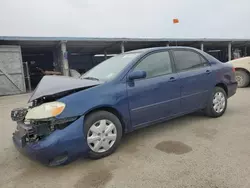
[[[174,51],[174,56],[177,71],[194,69],[208,65],[207,61],[201,55],[192,51],[176,50]]]

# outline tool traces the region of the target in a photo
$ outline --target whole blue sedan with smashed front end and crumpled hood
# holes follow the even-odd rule
[[[14,109],[17,149],[56,166],[79,155],[99,159],[113,153],[135,129],[202,110],[220,117],[236,93],[235,70],[188,47],[126,52],[80,79],[45,76],[30,106]]]

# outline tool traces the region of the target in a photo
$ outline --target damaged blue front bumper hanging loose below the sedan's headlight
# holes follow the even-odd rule
[[[27,142],[25,133],[17,130],[13,134],[16,148],[23,154],[45,165],[65,164],[88,152],[84,136],[84,117],[80,117],[63,129],[56,129],[50,135],[36,142]]]

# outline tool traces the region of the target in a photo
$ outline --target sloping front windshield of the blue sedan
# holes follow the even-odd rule
[[[93,67],[81,79],[108,81],[115,78],[140,53],[127,53],[114,56]]]

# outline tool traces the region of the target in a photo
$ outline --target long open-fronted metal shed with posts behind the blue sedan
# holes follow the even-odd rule
[[[191,46],[224,62],[250,55],[244,39],[0,37],[0,95],[33,90],[46,71],[82,74],[114,54],[158,46]]]

